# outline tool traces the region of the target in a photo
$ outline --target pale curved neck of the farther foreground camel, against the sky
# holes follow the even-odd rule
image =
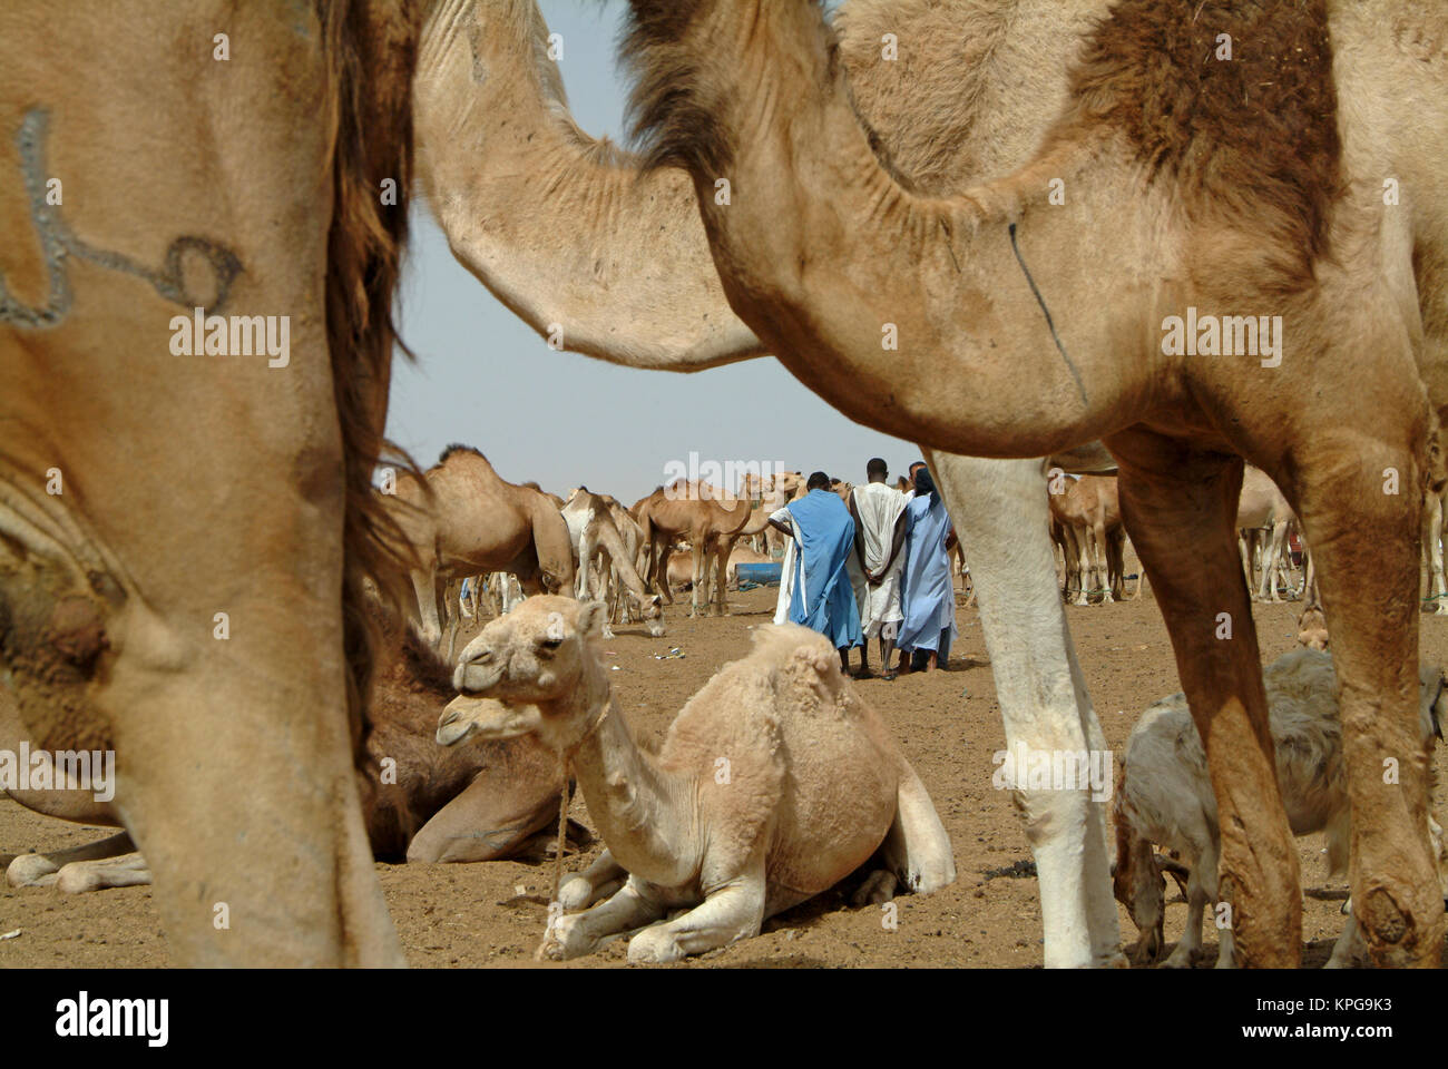
[[[688,175],[639,174],[573,123],[527,1],[440,0],[413,88],[417,162],[453,255],[572,352],[698,369],[763,351],[730,311]]]

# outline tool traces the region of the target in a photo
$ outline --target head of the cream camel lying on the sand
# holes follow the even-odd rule
[[[604,619],[601,601],[543,595],[492,620],[458,659],[460,694],[443,710],[437,742],[537,733],[555,749],[573,747],[608,697],[597,649]]]

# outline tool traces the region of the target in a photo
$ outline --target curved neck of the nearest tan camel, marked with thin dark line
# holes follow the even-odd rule
[[[1154,213],[1121,210],[1140,175],[1105,135],[1060,126],[1014,175],[925,198],[873,152],[818,6],[717,0],[643,25],[634,107],[653,158],[691,171],[731,303],[830,404],[980,456],[1050,453],[1144,413],[1150,356],[1128,377],[1119,355],[1148,340]]]

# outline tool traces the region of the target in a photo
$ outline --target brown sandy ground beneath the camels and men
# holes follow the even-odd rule
[[[686,595],[685,595],[686,597]],[[750,629],[767,623],[773,590],[731,598],[733,616],[686,620],[681,604],[669,610],[669,633],[650,639],[641,629],[621,630],[607,643],[620,708],[641,736],[662,736],[673,714],[725,661],[749,649]],[[1296,604],[1258,605],[1257,624],[1264,658],[1296,643]],[[1135,603],[1070,607],[1092,698],[1108,742],[1119,749],[1140,711],[1176,689],[1177,676],[1161,614],[1147,595]],[[880,907],[853,910],[847,894],[830,891],[765,924],[757,939],[715,950],[688,968],[759,966],[1038,966],[1041,915],[1035,878],[1021,875],[1031,860],[1009,797],[992,788],[992,755],[1005,746],[1001,714],[985,643],[973,608],[960,608],[960,640],[950,671],[901,676],[893,682],[857,684],[864,698],[893,726],[919,772],[954,843],[959,879],[938,894],[898,900],[898,927],[882,923]],[[683,658],[656,659],[670,646]],[[1423,617],[1425,659],[1448,663],[1448,620]],[[1442,747],[1436,759],[1442,774]],[[1445,781],[1448,782],[1448,781]],[[573,816],[588,821],[576,801]],[[1444,807],[1439,821],[1448,823]],[[0,852],[78,844],[100,830],[35,816],[0,798]],[[1322,965],[1342,927],[1342,885],[1329,885],[1321,836],[1299,840],[1306,888],[1305,965]],[[591,860],[601,846],[569,856],[571,869]],[[378,865],[388,907],[414,966],[533,965],[544,926],[543,897],[552,865],[491,862],[482,865]],[[846,888],[847,889],[847,888]],[[1174,942],[1186,904],[1170,886],[1167,940]],[[1122,936],[1137,931],[1122,913]],[[0,891],[0,940],[4,966],[162,966],[169,963],[165,937],[148,888],[126,888],[67,897],[54,889]],[[1216,942],[1206,933],[1200,965],[1215,960]],[[624,944],[569,963],[569,968],[620,966]]]

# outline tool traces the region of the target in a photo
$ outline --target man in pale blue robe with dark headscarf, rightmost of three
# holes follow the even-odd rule
[[[915,497],[905,506],[905,623],[896,645],[911,655],[906,671],[943,668],[956,637],[956,585],[950,548],[956,533],[928,468],[915,472]]]

